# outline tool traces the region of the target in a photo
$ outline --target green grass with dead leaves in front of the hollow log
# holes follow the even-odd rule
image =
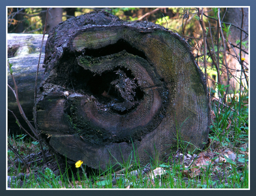
[[[151,159],[142,166],[137,157],[132,161],[136,156],[133,148],[130,161],[116,163],[119,171],[113,169],[114,165],[106,170],[92,170],[85,164],[74,168],[68,161],[58,161],[44,146],[46,156],[52,157],[47,167],[38,142],[27,140],[24,134],[8,136],[20,154],[19,157],[8,148],[8,176],[14,176],[8,187],[248,188],[248,90],[229,96],[226,105],[213,100],[212,111],[208,143],[199,154],[186,149],[187,143],[181,141],[177,129],[178,148],[166,159]]]

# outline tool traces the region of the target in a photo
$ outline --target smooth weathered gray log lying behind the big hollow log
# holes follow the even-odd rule
[[[21,106],[27,118],[33,122],[33,105],[34,105],[34,88],[37,65],[39,61],[39,52],[42,44],[43,35],[37,34],[17,34],[8,33],[8,59],[13,63],[13,75],[18,86],[18,94]],[[42,48],[41,60],[39,65],[38,84],[41,82],[44,68],[42,67],[45,56],[45,43],[48,35],[45,35],[44,45]],[[11,75],[8,70],[8,84],[14,88]],[[14,112],[21,125],[29,131],[29,128],[22,119],[17,106],[16,99],[12,91],[8,88],[8,109]],[[8,131],[12,133],[24,133],[20,131],[19,126],[15,123],[15,118],[8,112]]]

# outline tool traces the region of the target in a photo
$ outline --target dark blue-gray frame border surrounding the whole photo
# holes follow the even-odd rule
[[[251,13],[251,17],[250,17],[250,32],[255,32],[255,17],[254,17],[254,11],[256,10],[256,3],[254,1],[247,1],[247,0],[243,0],[243,1],[239,1],[239,0],[215,0],[215,1],[205,1],[205,0],[189,0],[189,1],[172,1],[172,0],[161,0],[161,1],[155,1],[155,0],[129,0],[129,1],[120,1],[120,0],[98,0],[98,1],[88,1],[88,0],[72,0],[72,1],[67,1],[67,0],[62,0],[62,1],[49,1],[49,0],[44,0],[44,1],[31,1],[31,0],[23,0],[23,1],[18,1],[18,0],[12,0],[12,1],[5,1],[5,5],[0,7],[0,18],[1,18],[1,25],[0,25],[0,30],[1,30],[1,39],[0,39],[0,46],[1,46],[1,52],[0,52],[0,57],[1,57],[1,66],[0,66],[0,92],[1,92],[1,96],[0,96],[0,116],[2,116],[2,118],[0,118],[0,125],[1,125],[1,129],[0,129],[0,138],[2,140],[2,142],[0,142],[0,153],[1,153],[1,167],[0,167],[0,187],[1,187],[1,195],[16,195],[16,194],[21,194],[21,195],[27,195],[30,194],[31,191],[27,192],[27,191],[5,191],[5,185],[6,185],[6,39],[4,38],[5,36],[5,32],[6,32],[6,7],[5,6],[10,6],[10,7],[22,7],[22,6],[61,6],[61,7],[66,7],[66,6],[76,6],[76,7],[92,7],[92,6],[106,6],[106,7],[111,7],[111,6],[122,6],[122,7],[126,7],[126,6],[134,6],[134,7],[139,7],[139,6],[154,6],[154,7],[164,7],[164,6],[168,6],[168,7],[172,7],[172,6],[179,6],[179,7],[204,7],[204,6],[211,6],[211,7],[217,7],[217,6],[225,6],[225,7],[229,7],[229,6],[250,6],[250,13]],[[254,33],[251,34],[252,36],[250,37],[250,53],[254,54],[254,51],[256,51],[256,38],[254,37]],[[256,62],[256,55],[251,55],[250,56],[250,62],[252,62],[252,65],[250,66],[250,75],[253,77],[249,78],[250,81],[250,138],[252,138],[252,142],[250,139],[250,147],[251,147],[251,157],[250,157],[250,168],[251,168],[251,191],[255,190],[255,186],[254,186],[254,182],[255,182],[255,169],[254,169],[254,164],[255,164],[255,156],[253,155],[253,149],[255,149],[255,142],[254,142],[254,138],[255,137],[255,105],[256,103],[254,103],[254,98],[256,97],[256,86],[255,86],[255,82],[256,82],[256,77],[255,76],[255,72],[256,72],[256,66],[254,65],[254,62]],[[4,192],[5,193],[4,193]],[[156,192],[157,191],[157,192]],[[163,194],[176,194],[178,193],[177,191],[174,190],[170,190],[172,192],[163,192]],[[174,192],[173,192],[174,191]],[[223,191],[223,190],[222,190]],[[251,192],[249,191],[249,192]],[[201,192],[202,194],[211,194],[210,191],[207,191],[208,193],[205,192]],[[32,194],[45,194],[45,191],[32,191]],[[74,194],[74,192],[57,192],[57,191],[50,191],[47,192],[46,194],[48,195],[56,195],[56,194],[62,194],[62,195],[70,195],[70,194]],[[79,192],[78,194],[81,194],[82,192]],[[83,194],[89,194],[89,195],[100,195],[100,194],[104,194],[104,195],[108,195],[108,194],[122,194],[122,195],[144,195],[144,194],[159,194],[159,190],[149,190],[149,191],[132,191],[132,192],[125,192],[125,191],[104,191],[103,190],[99,190],[99,191],[86,191],[83,192]],[[186,191],[185,194],[198,194],[198,191]],[[77,194],[77,192],[75,193]],[[179,194],[179,193],[178,193]],[[216,194],[215,192],[212,192],[212,194]],[[223,191],[222,194],[232,194],[232,195],[243,195],[243,194],[248,194],[248,192],[244,192],[242,193],[242,191]]]

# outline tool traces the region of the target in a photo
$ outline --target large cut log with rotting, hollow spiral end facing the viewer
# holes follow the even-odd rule
[[[204,147],[208,90],[176,33],[95,11],[56,26],[44,62],[33,113],[56,153],[105,168],[163,159],[177,140]]]

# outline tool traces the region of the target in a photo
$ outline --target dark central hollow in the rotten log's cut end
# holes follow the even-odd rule
[[[111,71],[105,71],[99,75],[80,67],[79,71],[74,73],[71,77],[73,82],[69,84],[69,88],[73,88],[79,93],[87,94],[90,96],[93,95],[99,103],[107,106],[123,103],[125,101],[124,98],[120,95],[115,86],[111,84],[112,81],[120,79],[117,74],[118,70],[123,71],[123,73],[126,74],[126,77],[130,80],[133,80],[137,85],[137,87],[134,89],[134,106],[131,109],[126,109],[125,111],[120,111],[113,108],[111,109],[111,111],[114,113],[126,114],[130,110],[136,108],[144,95],[143,91],[137,83],[137,80],[134,80],[135,76],[133,76],[131,70],[127,70],[124,67],[116,67]]]

